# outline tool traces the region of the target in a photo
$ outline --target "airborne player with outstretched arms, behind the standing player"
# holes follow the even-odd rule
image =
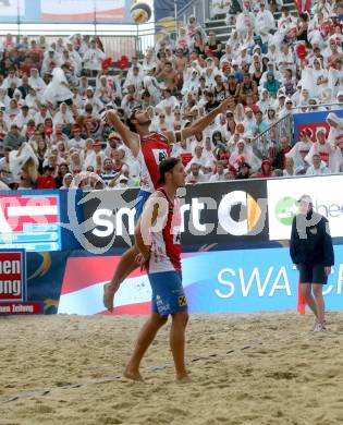
[[[139,218],[143,206],[158,189],[159,170],[158,166],[164,158],[170,157],[170,143],[179,143],[182,139],[201,133],[219,113],[226,111],[233,99],[226,98],[220,106],[208,112],[205,117],[181,131],[167,131],[163,134],[150,132],[151,117],[148,111],[140,108],[133,110],[127,125],[125,125],[114,110],[107,112],[106,120],[113,125],[122,137],[124,144],[131,149],[133,156],[137,158],[140,167],[140,191],[136,203],[136,219]],[[137,267],[135,257],[136,247],[126,251],[114,271],[110,283],[103,286],[103,305],[109,311],[113,311],[113,298],[122,281]]]

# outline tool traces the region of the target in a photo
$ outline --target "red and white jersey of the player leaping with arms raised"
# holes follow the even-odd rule
[[[158,166],[170,157],[168,138],[159,133],[150,133],[140,138],[137,160],[140,167],[140,189],[152,193],[158,189],[160,178]]]

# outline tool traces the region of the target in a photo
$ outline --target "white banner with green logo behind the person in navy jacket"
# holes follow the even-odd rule
[[[333,238],[343,236],[343,175],[278,179],[267,181],[268,227],[271,241],[290,240],[296,201],[310,195],[314,209],[327,217]]]

